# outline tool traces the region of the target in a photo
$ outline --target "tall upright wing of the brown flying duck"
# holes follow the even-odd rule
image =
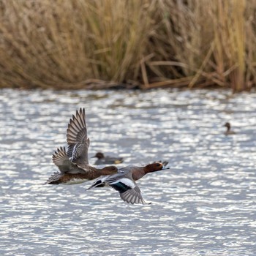
[[[86,111],[84,108],[76,111],[69,120],[67,127],[67,157],[78,165],[89,165],[88,148],[90,140],[87,137]]]

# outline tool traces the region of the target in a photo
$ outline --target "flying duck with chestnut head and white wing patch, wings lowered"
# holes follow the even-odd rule
[[[102,176],[94,182],[88,189],[94,187],[110,186],[119,192],[119,195],[124,202],[127,203],[146,203],[141,195],[140,188],[135,181],[145,176],[147,173],[157,172],[159,170],[169,169],[166,167],[167,162],[154,162],[144,167],[138,167],[135,165],[129,165],[118,169],[118,173],[110,176]],[[86,189],[86,190],[88,190]]]

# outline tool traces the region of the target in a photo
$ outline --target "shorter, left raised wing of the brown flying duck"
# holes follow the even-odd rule
[[[59,167],[61,173],[86,173],[86,170],[69,160],[65,147],[57,148],[53,154],[53,163]]]

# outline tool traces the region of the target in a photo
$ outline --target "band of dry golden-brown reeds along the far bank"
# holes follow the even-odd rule
[[[0,87],[256,82],[255,0],[1,0]]]

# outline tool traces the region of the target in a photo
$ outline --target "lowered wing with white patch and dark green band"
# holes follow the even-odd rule
[[[119,192],[119,195],[124,202],[132,204],[150,204],[145,202],[141,195],[140,188],[135,181],[132,181],[130,178],[120,178],[117,181],[110,181],[108,184]]]

